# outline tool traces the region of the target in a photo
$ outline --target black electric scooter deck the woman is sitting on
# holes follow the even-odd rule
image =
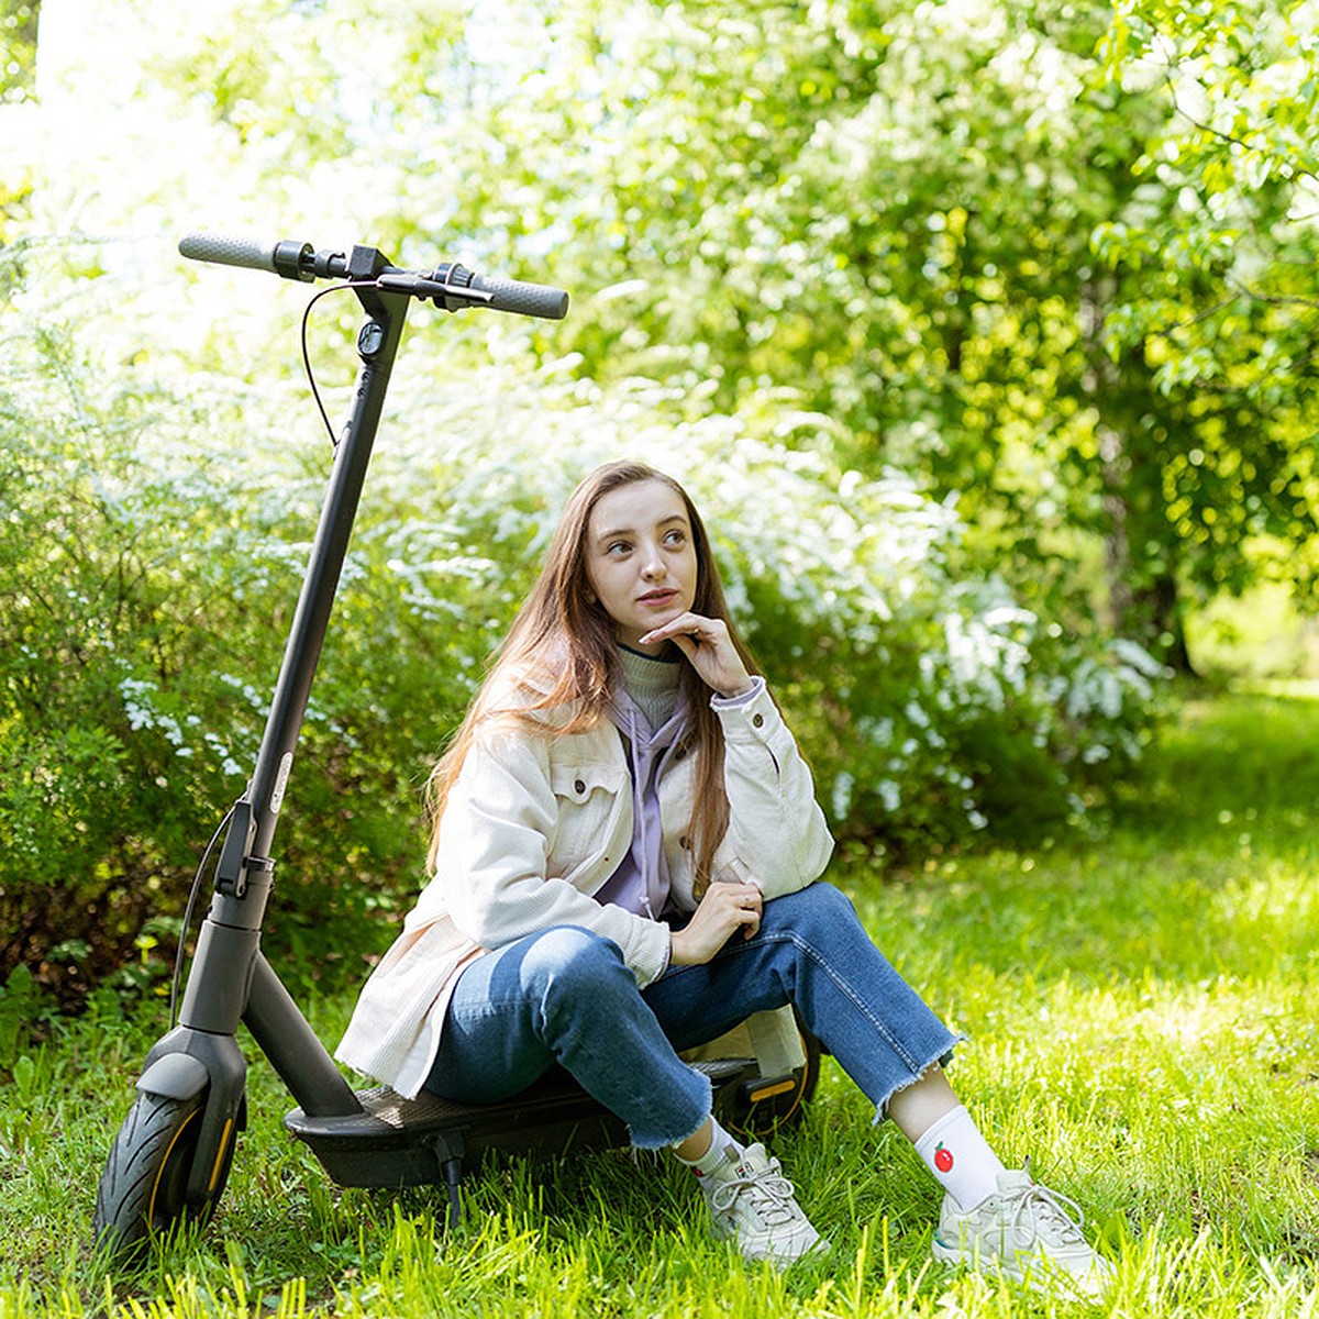
[[[752,1058],[694,1066],[715,1087],[716,1107],[721,1088],[760,1075]],[[295,1108],[284,1120],[339,1186],[451,1182],[451,1167],[470,1167],[493,1149],[559,1153],[628,1144],[624,1124],[561,1068],[497,1104],[458,1104],[426,1092],[404,1099],[386,1086],[360,1091],[357,1101],[357,1113],[313,1117]]]

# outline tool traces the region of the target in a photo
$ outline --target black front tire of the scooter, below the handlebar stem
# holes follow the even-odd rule
[[[190,1099],[138,1095],[128,1111],[96,1188],[96,1245],[115,1256],[138,1254],[158,1233],[204,1224],[224,1194],[236,1133],[220,1155],[206,1195],[187,1199],[206,1093]]]

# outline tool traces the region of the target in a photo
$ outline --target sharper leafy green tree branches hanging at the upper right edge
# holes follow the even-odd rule
[[[1319,484],[1312,422],[1319,348],[1319,42],[1304,7],[1117,7],[1115,84],[1154,90],[1170,113],[1133,173],[1141,204],[1096,233],[1133,272],[1108,338],[1186,400],[1195,447],[1173,472],[1200,579],[1254,574],[1312,599]],[[1175,199],[1162,210],[1150,197]]]

